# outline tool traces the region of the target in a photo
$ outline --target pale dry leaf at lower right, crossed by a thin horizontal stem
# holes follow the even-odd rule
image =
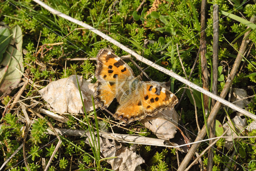
[[[245,130],[244,127],[246,127],[246,125],[247,125],[246,119],[245,118],[242,119],[238,115],[236,115],[233,119],[231,119],[231,121],[233,124],[230,121],[228,121],[228,122],[224,123],[224,125],[223,125],[224,131],[228,130],[227,133],[225,134],[225,136],[230,136],[229,138],[226,138],[226,141],[225,141],[225,147],[228,150],[230,150],[234,146],[232,136],[238,136],[234,132],[234,129],[240,135],[242,132],[244,132],[244,130]]]

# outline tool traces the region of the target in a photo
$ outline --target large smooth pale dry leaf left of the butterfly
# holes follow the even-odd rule
[[[94,95],[94,84],[86,82],[82,76],[77,76],[77,78],[86,111],[92,111],[91,95]],[[76,75],[51,82],[38,92],[57,113],[69,112],[77,114],[84,112]]]

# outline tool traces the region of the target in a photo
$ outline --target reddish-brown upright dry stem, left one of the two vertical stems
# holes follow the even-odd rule
[[[206,18],[206,0],[202,0],[201,4],[201,32],[200,32],[200,46],[202,46],[200,51],[200,57],[201,57],[201,68],[202,68],[202,82],[203,82],[203,88],[207,91],[209,91],[209,81],[208,81],[208,69],[207,69],[207,61],[206,61],[206,33],[205,33],[205,18]],[[203,95],[203,101],[204,101],[204,111],[205,114],[208,113],[208,101],[209,97],[204,94]]]

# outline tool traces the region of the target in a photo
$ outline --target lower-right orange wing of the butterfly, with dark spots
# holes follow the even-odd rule
[[[136,90],[116,110],[115,119],[129,123],[164,109],[172,109],[178,103],[172,92],[155,83],[139,82],[136,86]]]

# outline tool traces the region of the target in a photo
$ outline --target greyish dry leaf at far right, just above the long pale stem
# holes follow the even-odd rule
[[[233,88],[230,101],[231,102],[237,101],[237,102],[234,102],[234,104],[241,108],[244,108],[246,105],[248,105],[249,101],[248,101],[248,99],[243,99],[243,100],[240,100],[240,99],[247,97],[247,96],[248,95],[244,89]],[[238,100],[240,100],[240,101],[238,101]],[[235,110],[233,109],[233,111],[235,111]]]

